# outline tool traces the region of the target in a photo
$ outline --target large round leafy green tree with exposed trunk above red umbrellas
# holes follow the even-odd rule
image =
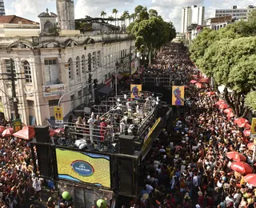
[[[256,84],[256,37],[223,38],[212,44],[201,59],[199,68],[213,76],[218,85],[226,86],[226,102],[238,116],[247,112],[244,105],[246,94]],[[227,92],[233,90],[233,100]]]

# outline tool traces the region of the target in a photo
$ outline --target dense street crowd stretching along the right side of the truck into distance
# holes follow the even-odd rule
[[[188,85],[186,102],[154,142],[146,161],[145,186],[132,207],[256,207],[256,189],[243,179],[246,174],[230,168],[232,160],[226,156],[240,152],[253,169],[253,151],[247,147],[253,140],[218,108],[217,92],[207,84],[201,89],[190,84],[197,70],[184,46],[171,43],[158,58],[150,66],[153,73],[182,74],[182,84]]]

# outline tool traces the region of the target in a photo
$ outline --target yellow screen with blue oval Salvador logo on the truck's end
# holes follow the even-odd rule
[[[58,178],[110,188],[110,157],[56,149]]]

